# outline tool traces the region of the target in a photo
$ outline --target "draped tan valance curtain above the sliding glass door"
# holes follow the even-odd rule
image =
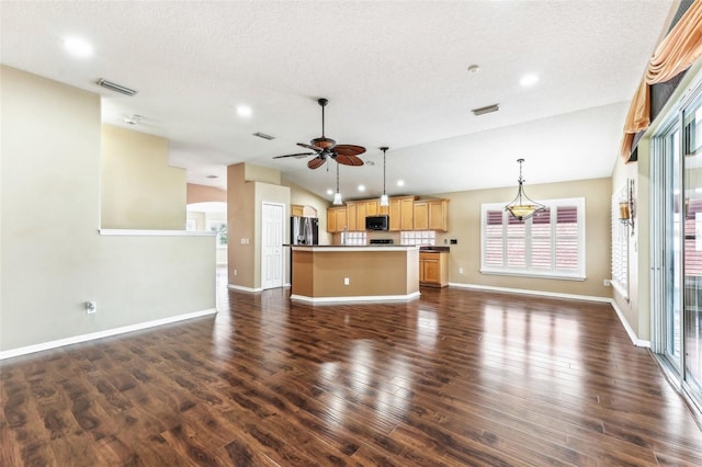
[[[702,1],[695,0],[658,45],[624,122],[621,156],[626,161],[634,135],[650,125],[650,86],[676,77],[702,55]]]

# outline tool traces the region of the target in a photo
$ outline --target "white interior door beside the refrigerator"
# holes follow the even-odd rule
[[[261,207],[261,288],[283,286],[284,209],[273,203]]]

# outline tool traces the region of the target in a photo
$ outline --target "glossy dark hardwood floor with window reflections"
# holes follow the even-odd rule
[[[1,466],[701,466],[609,305],[465,289],[219,314],[0,362]]]

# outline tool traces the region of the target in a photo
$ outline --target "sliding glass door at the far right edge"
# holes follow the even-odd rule
[[[702,407],[702,86],[681,109],[652,140],[652,346]]]

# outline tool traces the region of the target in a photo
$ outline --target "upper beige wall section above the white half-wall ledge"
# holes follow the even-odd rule
[[[185,185],[167,139],[102,126],[102,228],[185,229]]]

